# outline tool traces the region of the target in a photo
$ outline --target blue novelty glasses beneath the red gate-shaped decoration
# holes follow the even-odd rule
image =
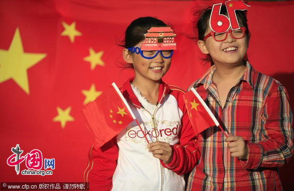
[[[155,58],[159,52],[160,52],[160,55],[166,59],[171,58],[173,54],[173,50],[141,50],[139,47],[131,47],[127,49],[130,50],[132,53],[136,53],[136,54],[140,53],[141,56],[146,59]]]

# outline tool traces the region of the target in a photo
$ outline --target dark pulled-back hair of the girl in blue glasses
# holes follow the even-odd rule
[[[153,17],[140,17],[132,21],[126,28],[125,37],[120,46],[130,48],[143,41],[145,39],[144,34],[147,33],[147,30],[149,30],[151,26],[167,26],[167,24]],[[133,68],[133,65],[124,63],[121,67],[124,69]]]

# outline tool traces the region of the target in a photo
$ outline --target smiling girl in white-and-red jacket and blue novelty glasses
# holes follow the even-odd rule
[[[148,42],[145,35],[151,27],[163,27],[159,34],[163,38],[152,37],[149,42],[175,45],[174,34],[166,31],[169,27],[163,21],[152,17],[132,21],[125,32],[123,59],[134,69],[135,77],[120,88],[145,132],[133,122],[101,148],[91,147],[84,173],[90,190],[183,191],[182,174],[198,161],[195,132],[182,98],[185,92],[162,81],[173,50],[142,46]],[[150,31],[150,36],[155,35]]]

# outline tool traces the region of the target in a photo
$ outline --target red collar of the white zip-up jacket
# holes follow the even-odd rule
[[[130,79],[128,79],[122,87],[122,94],[123,97],[128,100],[129,102],[131,102],[134,106],[136,107],[142,107],[141,103],[139,102],[139,100],[137,99],[136,95],[133,92],[133,89],[131,87],[131,82],[133,82],[135,77],[132,77]],[[168,85],[166,85],[162,80],[161,83],[159,85],[159,94],[158,94],[158,100],[157,103],[161,104],[162,101],[164,100],[164,97],[170,93],[170,88]]]

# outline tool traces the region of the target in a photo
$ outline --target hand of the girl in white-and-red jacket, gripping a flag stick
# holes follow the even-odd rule
[[[172,162],[173,152],[170,144],[156,141],[149,143],[147,148],[149,148],[148,151],[151,152],[155,158],[161,159],[165,164]]]

